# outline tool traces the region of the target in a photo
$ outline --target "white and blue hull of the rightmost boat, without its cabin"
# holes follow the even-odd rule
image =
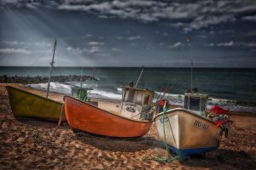
[[[162,141],[184,159],[187,156],[218,148],[221,129],[203,116],[184,109],[174,109],[155,116],[157,131]],[[164,127],[165,133],[164,133]]]

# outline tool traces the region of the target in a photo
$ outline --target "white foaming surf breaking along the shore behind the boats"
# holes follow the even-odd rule
[[[50,82],[49,91],[50,92],[57,92],[60,94],[71,94],[71,88],[73,85],[80,86],[80,82],[68,82],[71,85],[64,84],[61,82]],[[27,87],[30,88],[36,88],[41,90],[47,89],[48,83],[38,83],[38,84],[27,84]],[[104,98],[104,99],[122,99],[122,94],[119,92],[122,91],[122,88],[115,88],[116,93],[105,91],[102,89],[97,89],[97,86],[90,83],[83,83],[83,88],[92,88],[92,90],[88,91],[89,97],[95,97],[95,98]],[[179,105],[183,106],[184,102],[184,95],[183,94],[165,94],[163,96],[163,93],[155,92],[154,94],[154,102],[156,102],[157,99],[160,97],[164,97],[168,99],[171,103],[171,105]],[[230,100],[230,99],[220,99],[220,98],[212,98],[210,97],[207,101],[207,108],[210,109],[212,105],[220,105],[221,107],[224,107],[225,109],[228,109],[230,111],[246,111],[246,112],[256,112],[255,106],[242,106],[237,105],[236,100]]]

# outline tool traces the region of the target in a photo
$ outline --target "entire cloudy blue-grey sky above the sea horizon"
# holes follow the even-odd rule
[[[2,66],[57,38],[56,66],[256,67],[255,0],[1,0],[0,23]]]

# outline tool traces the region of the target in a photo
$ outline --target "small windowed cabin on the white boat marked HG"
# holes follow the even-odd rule
[[[193,111],[198,115],[206,116],[207,111],[207,94],[185,94],[184,109]]]

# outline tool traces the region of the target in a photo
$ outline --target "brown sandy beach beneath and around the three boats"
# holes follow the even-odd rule
[[[234,123],[229,137],[223,137],[218,150],[206,157],[190,156],[179,162],[161,163],[155,156],[166,156],[156,127],[137,139],[110,139],[74,133],[64,123],[16,120],[12,115],[7,84],[0,84],[0,169],[255,169],[256,113],[231,113]],[[10,85],[10,84],[9,84]],[[20,87],[32,93],[45,92]],[[51,99],[62,101],[57,93]],[[118,103],[104,99],[99,106],[114,110]],[[171,158],[175,155],[171,154]]]

